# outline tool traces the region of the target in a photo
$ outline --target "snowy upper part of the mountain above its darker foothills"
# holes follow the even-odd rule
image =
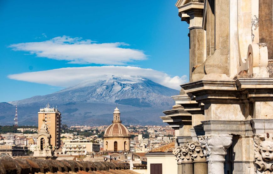
[[[68,87],[59,92],[9,103],[19,105],[37,102],[56,103],[56,101],[59,101],[63,103],[65,101],[73,101],[120,103],[139,107],[160,107],[173,103],[170,96],[177,94],[177,90],[164,87],[139,76],[103,76],[83,81],[78,85]]]

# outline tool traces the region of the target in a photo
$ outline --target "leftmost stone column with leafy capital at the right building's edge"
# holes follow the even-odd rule
[[[188,146],[176,147],[173,154],[176,156],[177,162],[180,163],[178,165],[178,174],[193,174],[192,156]]]

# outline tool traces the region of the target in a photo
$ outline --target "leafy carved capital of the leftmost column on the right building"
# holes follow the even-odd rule
[[[188,146],[179,146],[176,147],[173,151],[173,154],[176,156],[178,163],[181,162],[192,162],[193,157],[192,152],[189,151]]]

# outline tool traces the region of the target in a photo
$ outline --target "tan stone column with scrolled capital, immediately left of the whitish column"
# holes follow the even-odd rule
[[[208,165],[206,162],[206,156],[201,149],[198,141],[193,141],[188,144],[189,150],[192,153],[194,174],[207,174]]]

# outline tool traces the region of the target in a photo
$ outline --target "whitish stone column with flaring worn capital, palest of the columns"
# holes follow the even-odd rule
[[[199,136],[199,142],[208,162],[208,174],[224,174],[227,148],[232,144],[232,135],[209,134]]]

